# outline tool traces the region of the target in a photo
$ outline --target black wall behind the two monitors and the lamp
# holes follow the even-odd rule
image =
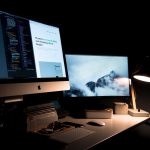
[[[60,27],[65,53],[127,55],[132,74],[150,53],[148,4],[80,1],[5,0],[0,10]],[[150,84],[133,82],[138,107],[150,112]],[[145,140],[149,130],[140,126],[134,134]]]

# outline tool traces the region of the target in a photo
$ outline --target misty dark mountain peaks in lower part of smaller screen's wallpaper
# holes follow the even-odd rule
[[[97,82],[89,81],[85,86],[81,87],[76,84],[71,85],[69,91],[65,91],[66,96],[82,97],[82,96],[127,96],[129,92],[128,78],[121,77],[111,71]]]

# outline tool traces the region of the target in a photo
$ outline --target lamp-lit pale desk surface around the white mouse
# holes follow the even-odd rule
[[[85,125],[86,129],[95,131],[93,134],[86,136],[80,140],[74,141],[68,144],[65,150],[84,150],[92,148],[95,145],[102,143],[103,141],[131,128],[144,121],[148,117],[132,117],[130,115],[113,115],[112,119],[100,119],[105,122],[105,126],[96,127],[88,125],[87,122],[95,119],[75,119],[71,117],[66,117],[60,121],[71,121]]]

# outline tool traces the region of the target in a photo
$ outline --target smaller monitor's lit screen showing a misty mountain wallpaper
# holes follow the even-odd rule
[[[70,90],[64,97],[129,96],[127,56],[66,55]]]

